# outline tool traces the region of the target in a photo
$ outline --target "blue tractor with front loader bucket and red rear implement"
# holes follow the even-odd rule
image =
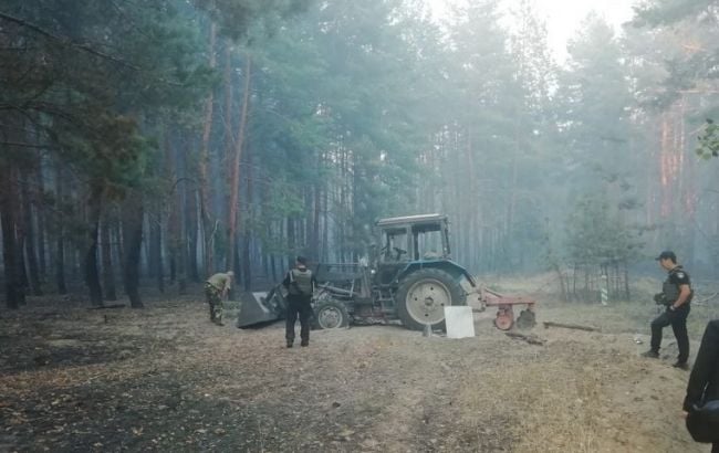
[[[514,324],[512,306],[527,305],[519,327],[535,324],[534,301],[504,297],[480,288],[475,278],[450,259],[449,221],[441,214],[382,219],[375,224],[378,242],[358,263],[320,263],[313,271],[315,328],[351,324],[398,324],[409,329],[445,328],[445,306],[498,306],[494,324],[507,330]],[[253,293],[242,304],[238,327],[283,317],[286,303],[279,285]]]

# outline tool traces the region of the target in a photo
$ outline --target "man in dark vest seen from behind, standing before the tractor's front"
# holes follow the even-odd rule
[[[288,318],[285,339],[288,348],[294,344],[294,324],[300,316],[300,346],[310,346],[310,318],[312,317],[312,294],[316,282],[312,271],[308,268],[308,261],[298,256],[296,266],[282,281],[288,289]]]

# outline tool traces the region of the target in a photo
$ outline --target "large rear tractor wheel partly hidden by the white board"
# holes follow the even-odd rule
[[[426,324],[445,328],[445,306],[466,305],[467,293],[447,272],[421,268],[407,275],[396,294],[397,315],[405,327],[421,330]]]

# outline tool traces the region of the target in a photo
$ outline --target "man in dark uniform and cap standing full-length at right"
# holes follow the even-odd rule
[[[668,271],[667,280],[661,286],[661,293],[654,296],[657,304],[665,305],[666,310],[652,322],[652,344],[644,357],[658,358],[661,346],[661,329],[671,325],[674,336],[679,347],[679,357],[674,364],[676,368],[689,369],[689,336],[687,335],[687,316],[691,309],[691,282],[689,274],[677,264],[677,255],[671,251],[665,251],[656,257],[659,265]]]

